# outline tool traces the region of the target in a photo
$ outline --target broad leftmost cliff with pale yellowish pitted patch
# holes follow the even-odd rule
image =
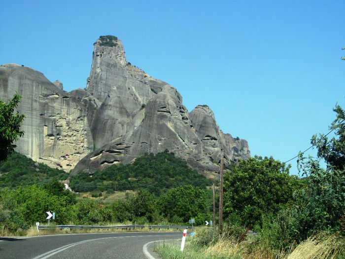
[[[25,114],[18,152],[69,170],[92,150],[83,103],[75,102],[42,73],[15,64],[0,66],[0,100],[7,102],[16,91],[23,96],[18,111]]]

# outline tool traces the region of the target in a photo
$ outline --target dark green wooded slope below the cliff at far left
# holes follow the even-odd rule
[[[68,173],[51,168],[17,152],[0,161],[0,187],[16,187],[46,183],[51,180],[66,180]]]

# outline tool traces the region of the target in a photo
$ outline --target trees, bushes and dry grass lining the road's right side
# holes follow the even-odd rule
[[[345,112],[334,111],[334,137],[311,138],[318,157],[299,154],[299,178],[272,157],[240,161],[224,176],[223,235],[197,230],[183,253],[158,245],[162,258],[344,259]]]

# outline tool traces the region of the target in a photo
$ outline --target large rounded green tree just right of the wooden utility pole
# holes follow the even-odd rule
[[[262,225],[262,217],[276,214],[293,200],[302,186],[297,176],[273,157],[254,156],[241,160],[224,174],[224,218],[245,226]]]

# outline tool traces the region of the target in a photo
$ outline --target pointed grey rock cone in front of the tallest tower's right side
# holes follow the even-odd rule
[[[165,85],[144,108],[141,124],[125,136],[83,158],[74,172],[93,173],[119,162],[129,163],[145,153],[168,149],[185,159],[199,172],[207,174],[218,170],[203,152],[203,143],[192,128],[182,97],[170,85]]]

